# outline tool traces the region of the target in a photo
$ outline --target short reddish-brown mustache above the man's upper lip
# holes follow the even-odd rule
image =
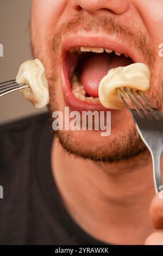
[[[58,47],[64,36],[77,34],[78,32],[102,32],[106,36],[114,35],[124,43],[128,41],[131,47],[134,46],[141,51],[149,66],[154,63],[154,49],[147,35],[140,31],[135,32],[132,28],[124,26],[112,16],[96,16],[93,19],[82,13],[74,15],[71,20],[62,23],[62,25],[55,29],[53,37],[54,52],[58,52]]]

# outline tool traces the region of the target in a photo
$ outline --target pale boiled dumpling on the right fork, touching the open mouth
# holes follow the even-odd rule
[[[116,89],[127,87],[146,92],[149,88],[149,80],[150,70],[143,63],[133,63],[111,69],[99,83],[99,100],[106,108],[124,108],[124,103]]]

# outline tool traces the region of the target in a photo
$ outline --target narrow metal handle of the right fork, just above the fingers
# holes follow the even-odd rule
[[[160,151],[155,151],[155,153],[151,151],[152,165],[153,165],[153,181],[154,181],[154,188],[155,188],[156,194],[158,194],[159,191],[161,191],[163,188],[162,181],[161,181],[161,167],[160,167],[161,155],[162,155],[162,152]]]

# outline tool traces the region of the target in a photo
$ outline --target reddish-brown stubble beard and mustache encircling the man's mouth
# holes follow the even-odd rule
[[[162,90],[160,94],[158,94],[158,90],[162,88],[162,82],[157,80],[158,83],[155,84],[155,89],[153,89],[156,71],[155,52],[152,48],[151,41],[146,38],[144,34],[140,32],[136,34],[134,31],[117,23],[112,18],[99,17],[96,20],[92,20],[91,18],[88,19],[79,14],[55,29],[53,39],[47,42],[50,50],[46,54],[41,54],[39,51],[36,51],[34,41],[32,41],[34,56],[40,58],[46,69],[50,95],[48,109],[51,117],[54,111],[64,113],[65,107],[59,66],[62,37],[67,34],[76,34],[80,31],[87,33],[102,31],[105,34],[113,34],[121,40],[129,40],[130,45],[139,48],[144,61],[152,70],[152,86],[149,89],[148,97],[156,107],[161,108]],[[58,63],[58,66],[55,65],[54,67],[54,63]],[[123,118],[120,118],[120,122],[117,123],[119,129],[115,129],[115,125],[113,125],[113,132],[107,138],[98,136],[97,131],[58,130],[55,131],[55,135],[58,137],[62,148],[73,156],[105,163],[126,160],[143,153],[146,150],[146,146],[138,135],[127,110],[123,111],[123,115],[127,119],[126,124],[124,124]],[[123,129],[121,129],[121,120],[123,122]]]

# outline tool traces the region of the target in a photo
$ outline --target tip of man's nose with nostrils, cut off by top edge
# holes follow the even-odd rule
[[[129,8],[129,0],[74,0],[74,3],[89,13],[105,9],[121,15]]]

